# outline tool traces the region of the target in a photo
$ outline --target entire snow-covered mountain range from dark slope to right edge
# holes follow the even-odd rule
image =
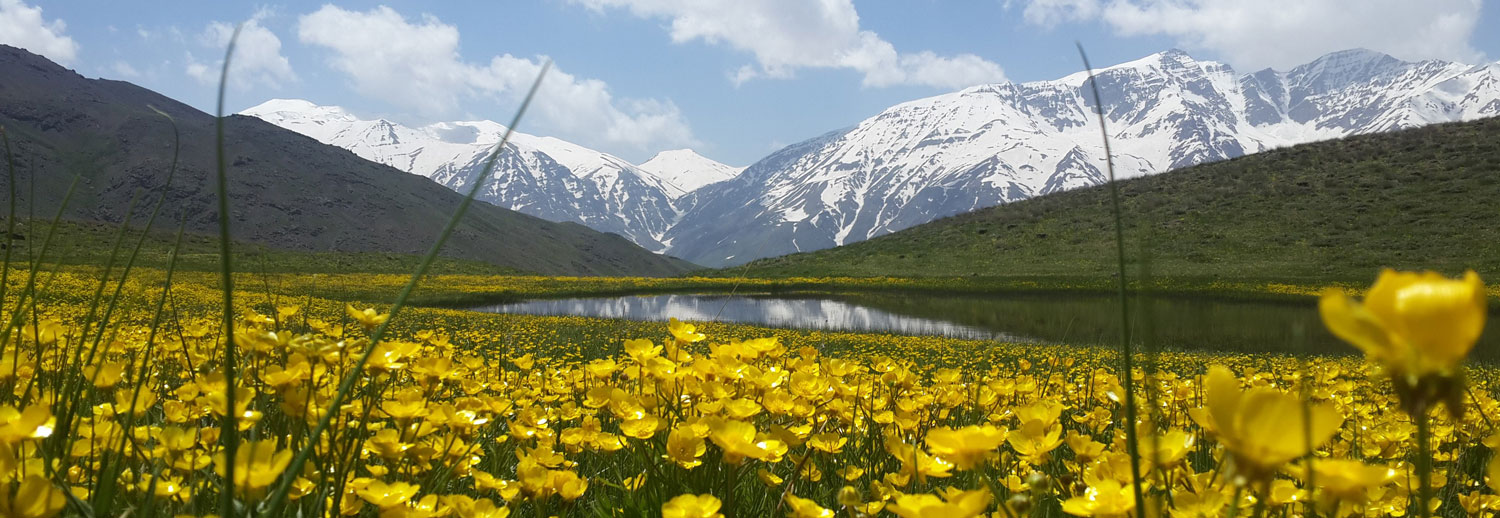
[[[552,137],[513,134],[482,200],[574,221],[705,266],[846,245],[938,218],[1106,180],[1095,113],[1116,173],[1142,176],[1266,149],[1500,116],[1500,62],[1402,62],[1330,53],[1239,74],[1167,50],[1054,81],[996,83],[915,99],[782,149],[748,168],[692,150],[633,165]],[[406,128],[338,107],[273,99],[244,111],[322,143],[470,185],[506,132],[447,122]]]

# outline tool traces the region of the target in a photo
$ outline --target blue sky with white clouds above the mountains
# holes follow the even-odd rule
[[[1352,47],[1500,59],[1482,0],[0,0],[0,44],[206,111],[240,23],[232,111],[302,98],[408,125],[508,122],[550,59],[520,131],[730,165],[903,101],[1076,72],[1074,41],[1095,66],[1173,47],[1240,72]]]

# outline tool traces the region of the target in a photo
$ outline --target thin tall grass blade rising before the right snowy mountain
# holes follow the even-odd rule
[[[1130,335],[1130,297],[1125,288],[1125,225],[1120,216],[1120,188],[1114,179],[1114,156],[1110,153],[1110,129],[1104,120],[1104,96],[1100,95],[1100,84],[1094,78],[1094,66],[1089,65],[1089,54],[1078,45],[1078,57],[1083,59],[1083,69],[1089,74],[1089,89],[1094,92],[1094,108],[1100,116],[1100,135],[1104,137],[1104,167],[1110,174],[1110,209],[1114,213],[1114,263],[1119,267],[1119,299],[1120,299],[1120,381],[1125,387],[1125,449],[1130,452],[1131,489],[1136,495],[1136,516],[1146,518],[1146,498],[1142,492],[1140,480],[1140,443],[1136,437],[1136,380],[1134,380],[1134,348]]]

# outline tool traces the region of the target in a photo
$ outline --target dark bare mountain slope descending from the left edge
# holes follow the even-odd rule
[[[182,131],[170,188],[164,182],[172,128],[152,107]],[[186,219],[195,231],[218,228],[213,116],[0,45],[0,126],[15,150],[21,198],[38,218],[51,216],[78,176],[68,218],[116,222],[132,198],[144,215],[165,192],[166,221]],[[432,180],[254,117],[225,119],[225,149],[234,236],[274,248],[420,254],[462,201]],[[470,209],[446,255],[538,273],[668,275],[688,267],[615,234],[483,203]]]

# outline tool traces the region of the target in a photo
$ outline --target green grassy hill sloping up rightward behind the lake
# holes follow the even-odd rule
[[[1500,119],[1269,150],[1120,183],[1130,263],[1156,276],[1365,281],[1378,267],[1500,279]],[[1107,186],[759,260],[752,276],[1113,275]]]

